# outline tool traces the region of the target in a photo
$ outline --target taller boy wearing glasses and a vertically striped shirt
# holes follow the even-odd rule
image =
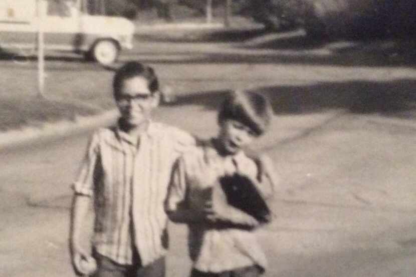
[[[152,68],[126,63],[114,76],[113,92],[120,118],[92,135],[73,184],[72,263],[78,275],[163,277],[168,242],[163,202],[170,171],[195,141],[151,121],[160,97]],[[90,202],[95,213],[92,256],[80,245]]]

